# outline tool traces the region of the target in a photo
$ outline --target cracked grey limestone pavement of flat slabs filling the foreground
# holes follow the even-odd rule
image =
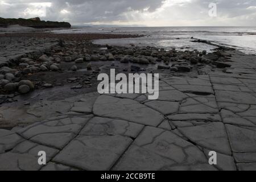
[[[0,130],[0,170],[256,170],[255,57],[236,56],[226,73],[160,75],[155,101],[96,92],[58,101],[56,117]]]

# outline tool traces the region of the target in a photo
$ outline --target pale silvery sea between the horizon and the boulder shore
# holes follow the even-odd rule
[[[154,46],[164,49],[183,49],[212,52],[216,46],[191,42],[191,38],[208,40],[219,46],[236,48],[242,52],[256,55],[256,27],[73,27],[54,30],[56,34],[138,34],[141,38],[100,39],[95,44],[114,46]]]

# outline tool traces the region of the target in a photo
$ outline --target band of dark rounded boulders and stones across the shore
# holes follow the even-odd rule
[[[17,38],[23,35],[22,38]],[[28,40],[24,40],[26,36],[32,36]],[[20,48],[15,55],[10,56],[10,48],[5,47],[6,52],[1,54],[0,68],[0,84],[1,94],[26,94],[40,86],[51,87],[52,81],[44,78],[44,75],[51,75],[53,72],[63,75],[65,72],[76,72],[79,69],[86,69],[88,72],[92,70],[92,62],[97,61],[119,61],[123,64],[137,64],[130,67],[123,68],[123,71],[140,72],[148,71],[150,67],[153,67],[150,72],[158,70],[168,70],[170,74],[193,72],[195,76],[205,75],[213,69],[223,69],[231,67],[228,63],[231,55],[224,51],[230,50],[229,48],[220,47],[213,53],[207,53],[207,51],[199,52],[194,51],[176,51],[176,49],[164,50],[156,47],[139,47],[130,45],[130,47],[113,47],[108,46],[96,46],[88,42],[88,40],[81,40],[85,36],[90,39],[94,39],[94,36],[101,38],[119,38],[129,37],[131,35],[52,35],[55,39],[44,38],[41,40],[35,39],[34,36],[47,36],[49,34],[11,34],[11,38],[2,38],[2,48],[5,44],[9,44],[16,40],[18,43],[26,43],[26,49]],[[7,35],[8,36],[8,35]],[[72,36],[72,37],[71,37]],[[79,40],[71,41],[72,38]],[[134,37],[134,36],[131,36]],[[62,39],[56,39],[62,38]],[[64,39],[63,39],[64,38]],[[8,43],[9,42],[9,43]],[[9,44],[10,45],[10,44]],[[31,45],[31,47],[30,47]],[[38,46],[37,46],[38,45]],[[11,44],[12,46],[12,44]],[[19,48],[17,46],[15,49]],[[35,49],[37,48],[37,49]],[[14,49],[14,50],[15,50]],[[9,59],[9,60],[8,60]],[[104,64],[104,63],[101,63]],[[3,66],[5,65],[5,66]],[[111,65],[115,65],[113,62]],[[139,65],[146,65],[142,68]],[[154,66],[155,65],[155,66]],[[155,68],[154,68],[155,67]],[[86,72],[86,71],[85,71]],[[92,71],[92,76],[96,76],[100,72],[100,68],[96,68]],[[55,76],[56,77],[56,76]],[[36,79],[33,84],[29,79]],[[67,78],[69,79],[69,78]],[[79,79],[69,79],[69,81],[78,81]],[[90,80],[85,78],[85,83],[90,84]],[[51,83],[46,83],[51,82]],[[58,83],[63,85],[63,82]],[[79,85],[78,88],[82,88]],[[5,97],[7,99],[7,97]],[[10,100],[9,100],[10,101]]]

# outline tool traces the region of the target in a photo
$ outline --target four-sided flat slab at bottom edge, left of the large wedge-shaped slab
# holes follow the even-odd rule
[[[109,170],[132,141],[121,136],[79,136],[53,160],[85,170]]]

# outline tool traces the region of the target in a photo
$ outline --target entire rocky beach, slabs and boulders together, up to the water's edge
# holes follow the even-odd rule
[[[209,49],[116,44],[146,37],[0,34],[0,170],[256,169],[255,55],[192,36]],[[159,98],[99,94],[110,69],[159,73]]]

